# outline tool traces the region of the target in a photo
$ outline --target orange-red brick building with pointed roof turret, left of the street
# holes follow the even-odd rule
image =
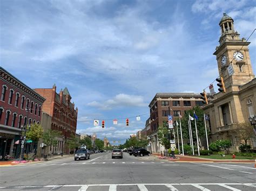
[[[68,88],[56,93],[56,86],[52,88],[36,88],[35,91],[45,97],[42,110],[49,114],[51,119],[51,129],[62,132],[62,137],[58,140],[58,146],[50,148],[53,154],[69,153],[69,148],[65,144],[66,140],[76,135],[77,112],[75,103],[71,103],[71,96]]]

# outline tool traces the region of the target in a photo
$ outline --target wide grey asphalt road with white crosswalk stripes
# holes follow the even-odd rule
[[[256,190],[254,164],[185,163],[111,153],[0,167],[3,190]]]

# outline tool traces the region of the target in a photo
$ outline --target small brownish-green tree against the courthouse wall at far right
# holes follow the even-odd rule
[[[255,136],[253,126],[249,122],[239,123],[234,131],[237,132],[240,140],[244,143],[241,144],[244,145],[246,152],[248,152],[248,140]]]

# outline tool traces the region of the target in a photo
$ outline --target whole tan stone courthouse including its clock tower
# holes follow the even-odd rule
[[[255,116],[256,79],[249,55],[250,43],[239,37],[233,23],[234,20],[224,13],[219,23],[219,46],[213,53],[217,59],[219,74],[224,79],[226,93],[215,94],[213,101],[203,109],[210,116],[207,125],[211,129],[211,142],[230,139],[232,148],[238,150],[241,140],[235,131],[237,124],[249,122],[248,118]],[[228,72],[231,66],[233,74]],[[254,138],[250,144],[255,149]]]

